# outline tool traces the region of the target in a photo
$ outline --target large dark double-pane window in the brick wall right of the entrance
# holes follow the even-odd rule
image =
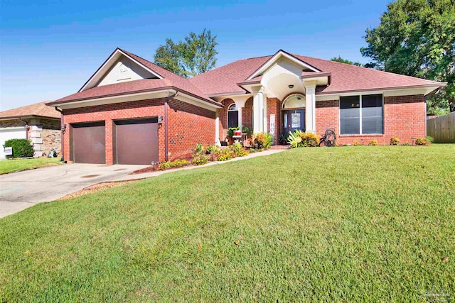
[[[340,97],[341,135],[384,133],[382,94]]]

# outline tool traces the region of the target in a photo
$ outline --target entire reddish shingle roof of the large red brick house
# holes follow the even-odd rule
[[[133,53],[129,53],[120,48],[117,50],[132,57],[141,65],[144,65],[149,68],[149,70],[154,71],[163,79],[139,79],[130,82],[92,87],[82,92],[50,102],[50,105],[56,105],[68,101],[111,97],[119,94],[134,92],[148,92],[158,89],[177,89],[178,91],[191,94],[193,97],[203,99],[204,101],[208,101],[212,104],[219,104],[218,102],[213,101],[213,99],[210,99],[209,96],[214,94],[245,93],[245,90],[243,90],[239,84],[260,82],[262,75],[248,81],[247,78],[250,77],[253,72],[259,70],[262,65],[273,57],[270,55],[237,60],[229,63],[228,65],[205,72],[202,75],[198,75],[191,79],[185,79],[169,72],[168,70],[165,70],[162,67],[159,67],[158,65],[155,65],[152,62],[149,62],[148,60],[145,60],[142,57],[139,57],[138,55],[134,55]],[[441,82],[397,75],[390,72],[370,70],[368,68],[348,65],[340,62],[322,60],[302,55],[288,55],[296,57],[307,65],[316,67],[317,70],[321,70],[321,72],[304,71],[302,72],[302,77],[311,77],[311,75],[324,75],[331,77],[330,85],[317,87],[316,94],[419,86],[441,87],[444,85]]]

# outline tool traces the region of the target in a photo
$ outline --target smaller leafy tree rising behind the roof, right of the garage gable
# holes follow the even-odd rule
[[[216,35],[204,28],[199,35],[191,32],[178,43],[166,39],[166,44],[156,49],[154,62],[176,75],[194,77],[215,67],[215,56],[218,54],[216,45]]]

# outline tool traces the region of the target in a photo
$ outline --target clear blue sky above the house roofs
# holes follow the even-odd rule
[[[166,38],[208,28],[218,64],[291,53],[360,55],[385,0],[0,2],[0,110],[73,94],[117,48],[153,60]]]

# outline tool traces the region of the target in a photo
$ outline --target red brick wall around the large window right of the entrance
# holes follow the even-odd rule
[[[371,140],[388,145],[392,137],[412,143],[412,138],[425,136],[426,106],[423,95],[384,97],[384,134],[340,136],[338,100],[316,101],[316,133],[322,136],[327,128],[334,128],[341,145],[354,141],[366,145]]]

